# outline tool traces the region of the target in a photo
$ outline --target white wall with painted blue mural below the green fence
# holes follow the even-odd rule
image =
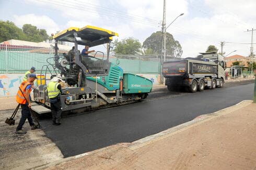
[[[159,85],[159,74],[137,74],[146,77],[153,82],[153,85]],[[24,74],[0,74],[0,97],[16,96]],[[46,77],[49,79],[50,77]],[[46,82],[47,83],[47,82]],[[36,82],[35,82],[36,85]]]

